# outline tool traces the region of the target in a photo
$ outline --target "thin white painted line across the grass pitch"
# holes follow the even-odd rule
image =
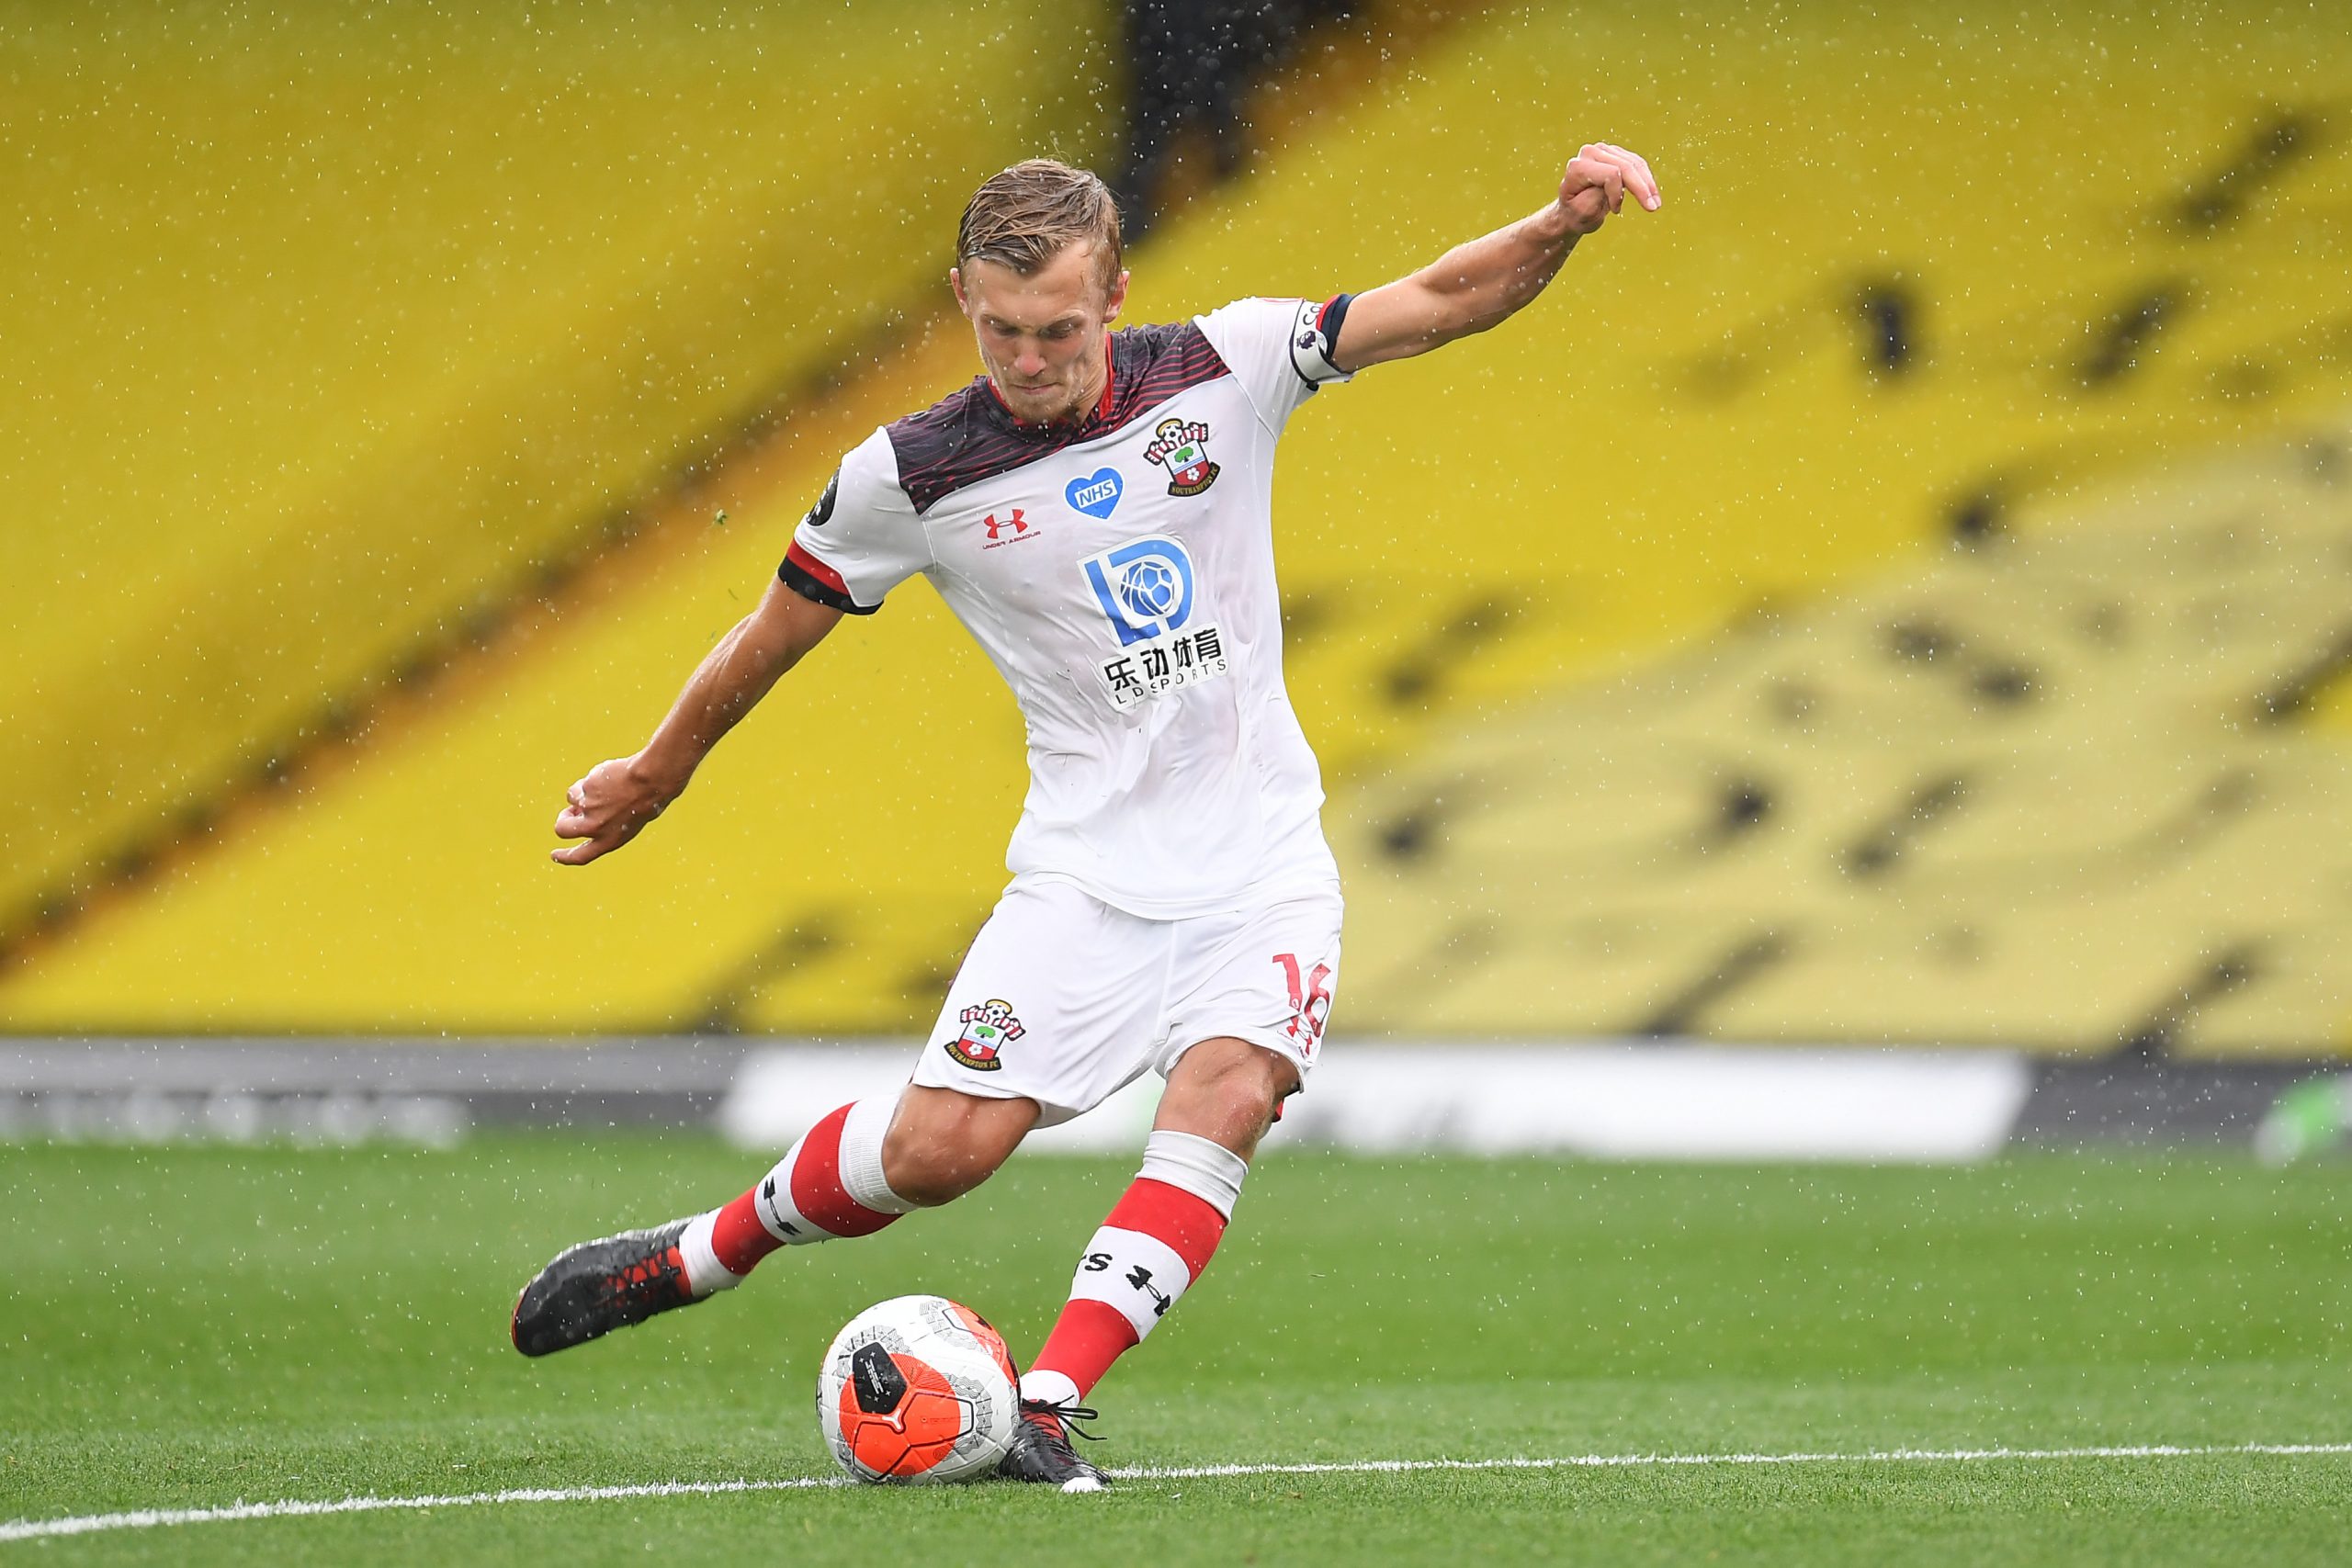
[[[1120,1481],[1202,1481],[1216,1476],[1374,1476],[1423,1469],[1649,1469],[1661,1465],[1964,1465],[1980,1460],[2194,1460],[2225,1455],[2352,1455],[2352,1443],[2227,1443],[2227,1446],[2110,1446],[2110,1448],[1879,1448],[1870,1453],[1578,1453],[1536,1460],[1338,1460],[1327,1465],[1138,1465],[1112,1469]],[[216,1509],[139,1509],[73,1519],[0,1523],[0,1542],[99,1530],[153,1530],[238,1519],[308,1519],[318,1514],[381,1514],[388,1509],[470,1509],[492,1502],[614,1502],[626,1497],[720,1497],[729,1493],[793,1493],[849,1486],[844,1476],[786,1476],[779,1481],[647,1481],[642,1486],[529,1486],[506,1493],[445,1497],[332,1497],[233,1502]]]

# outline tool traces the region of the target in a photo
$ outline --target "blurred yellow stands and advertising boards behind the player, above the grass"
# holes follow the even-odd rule
[[[903,1072],[1025,788],[929,590],[628,853],[546,849],[974,374],[971,186],[1103,172],[1169,320],[1376,287],[1592,139],[1665,212],[1284,444],[1350,891],[1294,1135],[2352,1119],[2321,9],[16,2],[0,61],[14,1138],[771,1143]]]

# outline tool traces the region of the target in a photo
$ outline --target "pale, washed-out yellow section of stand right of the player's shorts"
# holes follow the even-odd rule
[[[2347,458],[2340,428],[2138,473],[1423,748],[1348,818],[1350,1004],[1402,1032],[2352,1044],[2352,755],[2265,701],[2340,656]]]

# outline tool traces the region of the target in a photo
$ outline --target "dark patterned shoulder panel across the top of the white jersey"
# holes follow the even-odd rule
[[[1110,336],[1110,388],[1075,425],[1021,423],[990,390],[988,376],[974,376],[971,386],[889,425],[898,484],[915,503],[915,512],[929,512],[967,484],[1110,435],[1176,393],[1223,374],[1225,362],[1202,329],[1192,322],[1171,322],[1129,327]]]

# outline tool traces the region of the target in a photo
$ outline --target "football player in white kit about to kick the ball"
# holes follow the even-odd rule
[[[1649,165],[1592,143],[1548,207],[1385,287],[1110,331],[1127,273],[1103,183],[1030,160],[978,188],[948,287],[988,374],[842,458],[644,750],[572,785],[555,832],[576,842],[553,853],[628,844],[842,616],[922,574],[1028,722],[1011,884],[906,1088],[835,1110],[731,1204],[555,1258],[515,1302],[522,1354],[948,1204],[1030,1128],[1157,1072],[1143,1168],[1080,1253],[1002,1462],[1103,1483],[1068,1420],[1200,1279],[1338,978],[1322,780],[1282,686],[1275,442],[1317,388],[1522,310],[1625,197],[1658,207]]]

